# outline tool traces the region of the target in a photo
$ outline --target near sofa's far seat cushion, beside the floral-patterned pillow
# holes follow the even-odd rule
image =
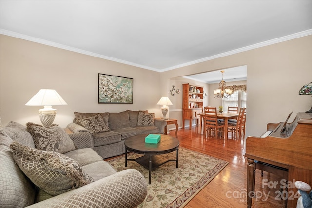
[[[97,161],[102,161],[103,158],[91,148],[77,149],[65,153],[66,156],[76,160],[80,166],[88,165]]]

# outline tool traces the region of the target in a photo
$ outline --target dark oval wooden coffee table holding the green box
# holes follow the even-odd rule
[[[127,167],[127,161],[136,161],[149,170],[148,184],[151,184],[152,170],[165,164],[169,161],[176,161],[176,168],[178,168],[178,155],[180,142],[175,137],[161,134],[158,144],[145,143],[145,137],[148,134],[141,134],[132,136],[125,140],[126,159],[125,166]],[[144,154],[144,156],[137,159],[128,159],[127,152],[134,152],[138,154]],[[167,154],[176,151],[176,159],[168,160],[161,154]]]

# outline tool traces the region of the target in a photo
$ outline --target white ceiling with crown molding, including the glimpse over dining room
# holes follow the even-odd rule
[[[0,9],[1,34],[159,72],[312,34],[312,0],[1,0]]]

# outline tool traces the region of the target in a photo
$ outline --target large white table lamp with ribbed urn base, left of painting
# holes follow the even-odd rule
[[[67,105],[63,98],[55,90],[41,89],[25,105],[44,106],[39,109],[40,121],[45,127],[50,127],[54,121],[57,110],[52,105]]]

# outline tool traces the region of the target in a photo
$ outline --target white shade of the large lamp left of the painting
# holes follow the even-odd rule
[[[67,105],[65,100],[57,93],[56,90],[41,89],[25,105],[45,106],[45,105]]]

